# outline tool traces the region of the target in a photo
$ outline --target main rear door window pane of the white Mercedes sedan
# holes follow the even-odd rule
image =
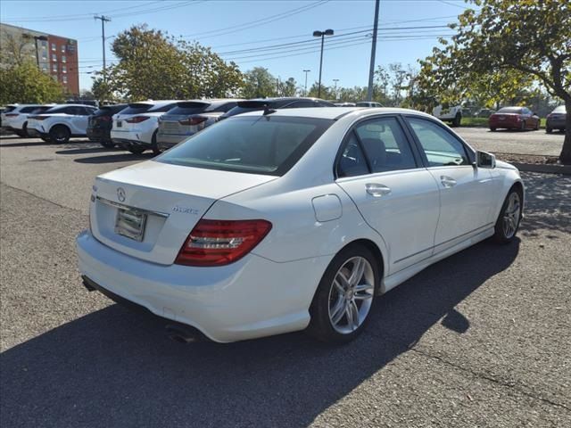
[[[417,168],[401,125],[395,118],[378,118],[355,127],[372,172]]]

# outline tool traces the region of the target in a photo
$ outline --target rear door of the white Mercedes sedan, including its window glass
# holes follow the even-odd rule
[[[389,275],[430,257],[440,210],[438,185],[398,117],[356,124],[344,138],[335,171],[337,185],[385,241]]]

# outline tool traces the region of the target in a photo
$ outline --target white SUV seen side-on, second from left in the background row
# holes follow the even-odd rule
[[[86,136],[87,119],[97,110],[90,105],[57,104],[28,118],[29,136],[52,143],[67,143],[71,136]]]

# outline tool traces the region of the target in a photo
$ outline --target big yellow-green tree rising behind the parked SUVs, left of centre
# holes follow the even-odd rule
[[[92,88],[102,101],[224,97],[243,85],[234,62],[145,25],[120,33],[112,52],[119,62],[97,76]]]

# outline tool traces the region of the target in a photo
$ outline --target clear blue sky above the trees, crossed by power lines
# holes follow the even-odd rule
[[[381,0],[377,65],[416,65],[431,53],[437,37],[450,35],[447,23],[467,7],[463,0]],[[326,39],[324,85],[366,86],[374,0],[131,0],[0,2],[0,21],[78,40],[79,86],[91,87],[90,71],[102,68],[101,22],[105,27],[107,62],[113,62],[112,36],[146,23],[209,45],[245,71],[262,66],[276,77],[304,82],[302,70],[319,75],[319,39],[313,30],[334,29]],[[310,85],[310,83],[309,83]]]

